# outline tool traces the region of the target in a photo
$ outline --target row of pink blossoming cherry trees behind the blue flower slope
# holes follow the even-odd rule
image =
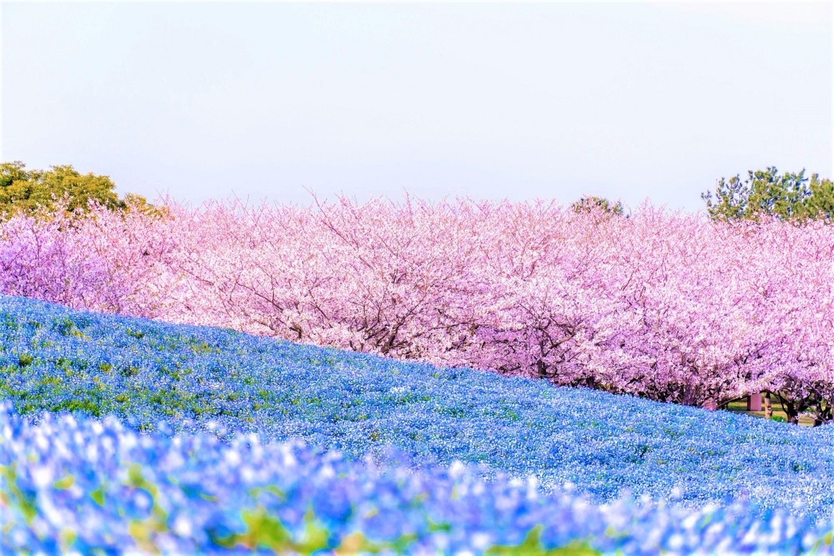
[[[0,291],[832,420],[834,227],[548,203],[168,203],[0,223]]]

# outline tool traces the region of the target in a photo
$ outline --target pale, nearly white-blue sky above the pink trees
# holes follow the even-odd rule
[[[200,203],[832,177],[830,3],[2,3],[3,161]]]

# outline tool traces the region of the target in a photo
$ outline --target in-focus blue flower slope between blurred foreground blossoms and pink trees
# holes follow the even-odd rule
[[[834,516],[834,428],[795,428],[587,388],[555,388],[541,380],[403,363],[233,330],[79,312],[26,298],[0,296],[0,398],[13,402],[14,413],[36,421],[46,418],[46,423],[52,421],[44,410],[71,411],[79,417],[112,414],[133,430],[164,437],[212,433],[212,438],[229,442],[239,434],[254,434],[264,444],[296,439],[337,449],[352,461],[371,457],[379,463],[388,461],[393,447],[409,458],[409,468],[430,474],[461,461],[478,465],[477,474],[489,482],[502,473],[522,479],[534,475],[543,495],[558,497],[570,485],[589,503],[614,504],[622,523],[636,519],[635,531],[646,525],[644,518],[668,520],[662,526],[665,532],[681,522],[662,512],[641,513],[648,510],[623,502],[625,496],[674,498],[681,511],[701,512],[712,505],[740,523],[721,522],[722,530],[735,539],[734,547],[753,523],[771,527],[760,521],[777,513],[789,518],[778,523],[793,523],[793,528],[773,533],[773,542],[783,548],[798,546],[791,543],[817,528],[831,528]],[[81,423],[85,430],[98,426],[83,419]],[[4,433],[4,445],[7,438],[36,434],[28,425],[14,427],[23,427],[23,432]],[[83,448],[42,448],[70,459],[73,453],[104,453],[86,448],[87,442],[98,443],[98,437],[82,441],[86,437],[70,436]],[[163,436],[153,438],[159,444],[143,457],[158,453],[163,458],[173,449],[158,439]],[[203,440],[177,442],[208,442],[199,438]],[[22,439],[14,449],[26,452],[41,444]],[[20,462],[18,474],[28,465],[20,457],[13,459]],[[123,468],[127,463],[112,465]],[[30,468],[33,472],[38,465]],[[10,473],[8,468],[5,473]],[[208,477],[208,485],[239,480]],[[746,502],[743,509],[727,509],[730,500]],[[478,503],[487,508],[492,502]],[[638,519],[638,514],[644,517]],[[473,523],[480,523],[480,514],[474,515]],[[529,527],[500,527],[520,535],[533,522],[523,523]],[[473,532],[464,530],[461,538]],[[575,538],[584,538],[585,529],[577,531]],[[698,535],[700,540],[692,542],[707,543]],[[751,535],[756,543],[765,542],[755,532]],[[494,540],[515,542],[510,537]],[[779,544],[783,542],[787,544]],[[703,546],[717,546],[709,543]]]

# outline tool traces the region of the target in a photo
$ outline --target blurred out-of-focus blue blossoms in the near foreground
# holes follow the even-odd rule
[[[67,553],[832,553],[829,528],[744,503],[604,506],[457,463],[414,471],[257,435],[138,435],[0,408],[0,549]],[[570,552],[567,551],[570,550]],[[550,552],[547,552],[550,553]]]

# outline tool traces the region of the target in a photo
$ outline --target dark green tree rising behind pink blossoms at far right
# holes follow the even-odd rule
[[[748,171],[741,180],[736,174],[721,178],[714,192],[701,193],[706,210],[716,220],[758,219],[775,215],[782,220],[803,221],[807,218],[834,216],[834,187],[831,180],[820,180],[818,174],[805,177],[799,173],[778,173],[775,167]]]

